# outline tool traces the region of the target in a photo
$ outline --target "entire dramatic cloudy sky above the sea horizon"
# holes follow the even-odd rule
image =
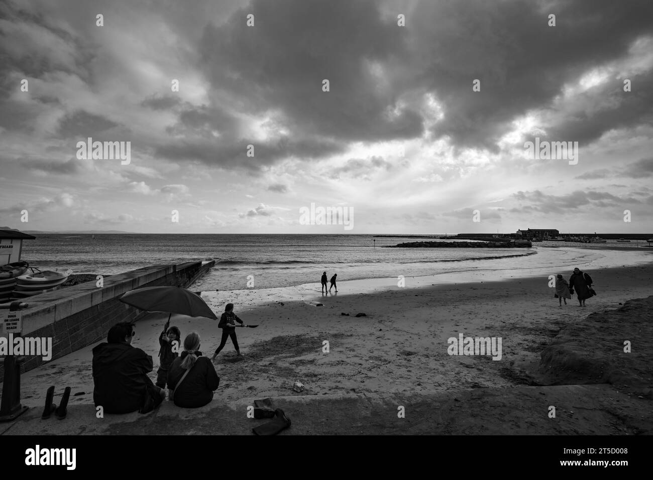
[[[0,3],[0,225],[343,232],[300,225],[315,202],[351,233],[652,232],[652,180],[650,0]]]

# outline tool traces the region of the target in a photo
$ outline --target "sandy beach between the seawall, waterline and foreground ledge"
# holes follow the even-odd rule
[[[243,359],[235,357],[228,341],[215,360],[221,384],[212,404],[268,396],[402,396],[449,389],[609,383],[606,379],[571,378],[565,382],[552,378],[550,372],[542,371],[542,352],[561,329],[588,321],[591,313],[651,295],[653,264],[643,263],[645,259],[620,268],[588,268],[598,295],[590,298],[585,308],[578,306],[575,297],[567,300],[566,306],[558,306],[554,289],[548,286],[550,272],[522,270],[406,278],[406,287],[398,287],[396,279],[345,281],[339,283],[338,294],[328,296],[321,295],[317,283],[203,293],[218,315],[227,302],[233,302],[236,314],[245,323],[259,324],[257,328],[236,330]],[[569,273],[561,272],[565,276]],[[352,291],[356,293],[349,293]],[[357,313],[365,316],[355,317]],[[157,369],[157,336],[166,318],[150,313],[136,324],[133,345],[153,356],[152,379]],[[175,315],[172,325],[180,327],[182,337],[197,330],[204,355],[212,355],[219,343],[217,321]],[[501,359],[449,355],[447,339],[459,334],[502,338]],[[591,326],[575,331],[581,340],[590,341],[592,334]],[[610,337],[613,344],[622,343],[619,334]],[[59,394],[65,386],[72,388],[71,405],[92,404],[93,346],[25,373],[23,403],[40,408],[46,389],[56,385]],[[641,354],[642,344],[639,348]],[[653,349],[650,345],[644,349],[644,357],[628,357],[621,367],[635,368],[628,364],[631,359],[648,362],[648,367],[637,367],[641,378],[629,393],[650,399]],[[304,391],[293,391],[295,381],[304,384]]]

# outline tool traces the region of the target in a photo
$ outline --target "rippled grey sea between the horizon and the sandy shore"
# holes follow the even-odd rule
[[[287,287],[338,280],[426,276],[488,269],[547,268],[605,256],[592,248],[387,248],[436,240],[360,234],[35,234],[24,240],[22,260],[41,270],[112,275],[151,264],[214,260],[199,280],[202,291]],[[438,240],[454,241],[454,240]],[[617,244],[623,246],[623,244]],[[573,247],[573,246],[570,246]]]

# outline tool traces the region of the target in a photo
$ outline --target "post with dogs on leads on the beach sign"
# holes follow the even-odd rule
[[[6,307],[0,310],[0,337],[8,337],[10,332],[16,337],[21,335],[23,322],[20,309],[27,306],[29,305],[23,302],[12,302],[8,312]],[[0,403],[0,423],[16,419],[29,408],[20,404],[20,364],[25,360],[24,357],[6,355],[4,360],[5,379]]]

